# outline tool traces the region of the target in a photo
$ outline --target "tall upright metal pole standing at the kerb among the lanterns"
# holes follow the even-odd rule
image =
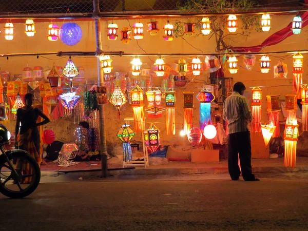
[[[95,23],[95,38],[96,38],[96,51],[98,63],[98,86],[104,85],[104,71],[101,68],[99,56],[102,52],[102,36],[101,36],[101,17],[100,17],[100,1],[93,0],[93,18]],[[100,138],[101,138],[101,156],[102,156],[102,177],[107,177],[107,143],[106,143],[106,130],[105,130],[105,105],[99,105],[100,109]]]

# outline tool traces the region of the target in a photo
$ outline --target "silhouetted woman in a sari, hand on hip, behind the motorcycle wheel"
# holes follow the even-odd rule
[[[49,118],[38,108],[32,107],[33,94],[27,93],[25,95],[25,107],[18,108],[16,113],[16,127],[15,127],[15,143],[18,144],[18,148],[23,149],[29,153],[41,166],[42,153],[40,153],[40,132],[37,127],[45,125],[50,122]],[[40,123],[36,123],[38,116],[44,120]],[[19,132],[19,136],[18,136]],[[25,163],[17,163],[22,165],[23,174],[31,174],[32,168]],[[30,183],[31,177],[27,177],[21,183]]]

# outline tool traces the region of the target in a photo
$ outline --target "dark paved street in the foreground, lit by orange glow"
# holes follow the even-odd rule
[[[0,196],[0,230],[308,230],[307,178],[219,178],[42,183]]]

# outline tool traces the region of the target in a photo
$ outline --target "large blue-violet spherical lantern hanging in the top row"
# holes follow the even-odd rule
[[[76,23],[65,23],[60,28],[60,40],[68,46],[79,43],[82,37],[82,30]]]

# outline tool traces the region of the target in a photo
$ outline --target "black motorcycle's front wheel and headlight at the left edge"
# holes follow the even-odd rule
[[[10,131],[0,124],[0,192],[10,198],[24,198],[40,183],[41,170],[28,152],[5,150],[10,138]]]

